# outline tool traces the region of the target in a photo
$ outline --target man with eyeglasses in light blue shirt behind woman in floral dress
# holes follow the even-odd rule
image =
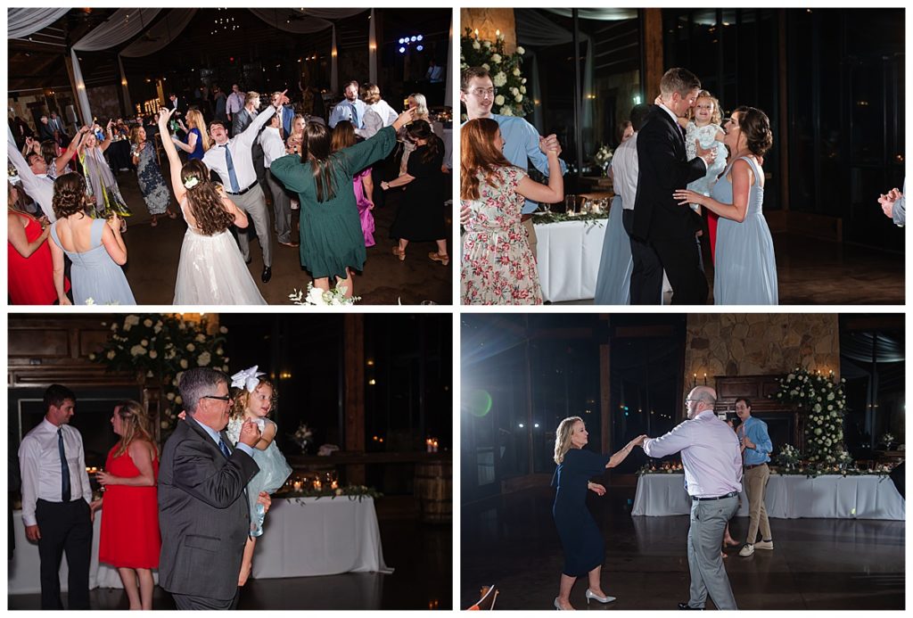
[[[498,128],[501,130],[501,137],[504,139],[504,158],[524,171],[530,169],[530,162],[532,162],[533,167],[548,178],[549,159],[545,152],[540,150],[539,131],[529,122],[517,116],[491,113],[491,109],[495,105],[495,96],[495,85],[487,68],[469,67],[463,71],[459,100],[466,105],[468,120],[477,118],[496,120]],[[557,148],[558,154],[561,154],[561,146],[554,133],[551,133],[545,140],[547,151]],[[561,162],[561,173],[567,173],[567,165],[563,161]],[[526,228],[527,242],[530,243],[530,251],[534,257],[536,255],[536,230],[532,225],[532,213],[538,207],[539,204],[527,200],[520,210],[523,227]],[[467,221],[468,216],[469,209],[466,207],[461,209],[460,219],[463,222]]]

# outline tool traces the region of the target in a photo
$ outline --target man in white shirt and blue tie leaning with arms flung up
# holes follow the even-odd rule
[[[264,283],[272,278],[273,250],[270,242],[269,213],[267,211],[267,198],[263,188],[257,183],[257,171],[254,169],[254,156],[252,148],[260,129],[268,122],[277,110],[282,107],[282,99],[273,97],[272,104],[257,114],[247,129],[239,135],[229,139],[228,131],[224,124],[218,120],[209,123],[209,134],[215,142],[203,155],[203,162],[213,172],[217,173],[226,190],[228,199],[247,213],[257,228],[257,239],[260,241],[260,250],[263,252],[263,274],[260,277]],[[238,246],[244,261],[250,263],[250,245],[247,239],[247,230],[238,234]]]

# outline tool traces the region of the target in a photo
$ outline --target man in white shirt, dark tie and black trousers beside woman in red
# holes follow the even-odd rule
[[[41,609],[62,610],[60,558],[67,552],[68,608],[89,609],[92,553],[92,489],[79,430],[69,426],[76,395],[52,384],[45,391],[45,418],[19,445],[22,522],[41,558]]]

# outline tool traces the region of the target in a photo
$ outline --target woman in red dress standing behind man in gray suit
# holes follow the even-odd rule
[[[152,609],[152,569],[159,567],[158,449],[140,403],[114,406],[114,433],[121,436],[97,479],[105,488],[99,561],[117,567],[131,610]],[[101,508],[101,500],[92,503]],[[137,582],[139,581],[139,590]]]

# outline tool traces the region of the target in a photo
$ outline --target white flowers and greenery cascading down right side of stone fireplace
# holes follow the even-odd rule
[[[817,464],[834,464],[844,450],[845,379],[834,372],[823,375],[796,367],[780,379],[780,390],[771,398],[792,403],[805,414],[805,458]]]

